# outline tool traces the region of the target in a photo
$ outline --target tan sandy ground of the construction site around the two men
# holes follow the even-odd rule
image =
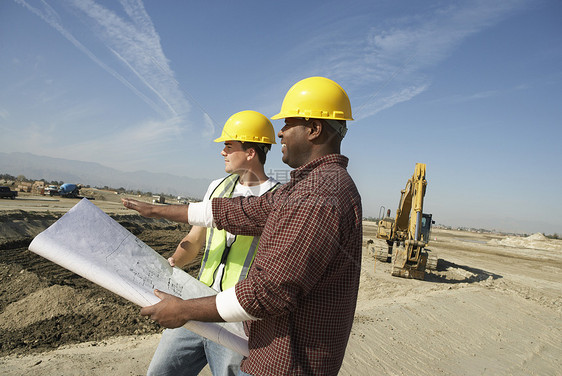
[[[13,227],[0,231],[5,244],[0,252],[6,255],[0,260],[4,268],[3,272],[0,269],[0,342],[11,344],[0,353],[0,374],[145,374],[159,328],[146,320],[135,321],[136,307],[113,301],[87,281],[49,269],[33,255],[22,256],[25,241],[17,240],[14,229],[33,235],[48,225],[49,218],[54,220],[39,213],[56,216],[73,205],[72,200],[34,200],[0,201],[0,219],[9,219],[1,223],[2,229],[9,222]],[[114,214],[127,214],[117,197],[96,200],[96,205]],[[9,213],[23,207],[25,211],[18,212],[23,219],[10,219]],[[120,220],[162,254],[175,247],[178,238],[174,233],[187,231],[134,224],[126,216]],[[149,230],[143,230],[145,227]],[[429,248],[440,258],[439,266],[425,281],[419,281],[392,277],[390,264],[375,261],[373,246],[384,244],[375,238],[375,231],[374,223],[365,222],[359,299],[341,375],[562,374],[562,241],[540,234],[520,238],[435,229]],[[44,277],[49,273],[49,278]],[[26,286],[36,288],[26,290]],[[41,296],[60,297],[59,304],[49,307],[47,313],[37,307]],[[128,318],[127,325],[96,313],[89,305],[96,299],[112,310],[127,308],[116,311],[121,319]],[[83,310],[71,308],[65,301],[79,302]],[[75,312],[68,315],[65,309]],[[92,322],[111,325],[99,332],[84,332]],[[52,325],[47,326],[49,323]],[[64,340],[59,335],[49,342],[42,326],[74,336]],[[96,330],[103,326],[97,325]],[[114,327],[120,331],[112,332]],[[30,332],[35,337],[25,337]],[[17,335],[26,339],[20,343]],[[41,341],[48,346],[41,346]],[[210,375],[209,370],[202,375]]]

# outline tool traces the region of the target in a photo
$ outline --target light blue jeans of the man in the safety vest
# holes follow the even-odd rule
[[[166,329],[148,366],[148,376],[196,376],[207,363],[213,375],[236,376],[242,355],[183,327]]]

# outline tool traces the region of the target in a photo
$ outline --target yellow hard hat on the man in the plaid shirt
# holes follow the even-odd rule
[[[309,77],[294,84],[285,95],[281,112],[271,119],[291,117],[353,120],[347,93],[325,77]]]

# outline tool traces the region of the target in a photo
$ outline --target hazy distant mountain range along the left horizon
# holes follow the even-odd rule
[[[0,152],[0,173],[24,175],[28,179],[63,181],[92,187],[125,188],[202,199],[208,179],[148,171],[124,172],[95,162]]]

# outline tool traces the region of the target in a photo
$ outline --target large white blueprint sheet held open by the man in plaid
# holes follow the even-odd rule
[[[40,233],[29,250],[141,306],[160,299],[154,289],[183,299],[216,291],[143,243],[87,199],[82,199]],[[248,340],[240,323],[189,321],[185,327],[248,356]]]

